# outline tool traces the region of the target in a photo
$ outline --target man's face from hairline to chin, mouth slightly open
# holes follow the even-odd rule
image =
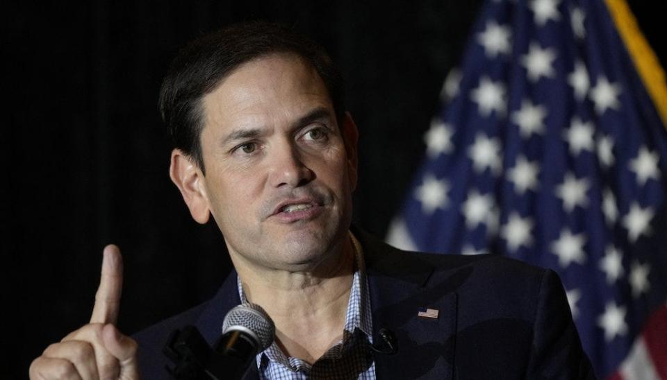
[[[205,198],[235,265],[313,270],[340,252],[356,127],[346,118],[339,128],[315,69],[267,55],[238,67],[203,105]]]

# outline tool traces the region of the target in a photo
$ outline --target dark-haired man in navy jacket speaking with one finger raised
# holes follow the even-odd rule
[[[108,246],[90,324],[47,347],[31,377],[167,378],[172,329],[195,325],[213,343],[249,301],[276,336],[248,379],[592,378],[550,270],[402,252],[350,231],[357,130],[341,87],[326,53],[281,26],[233,26],[181,51],[160,96],[170,176],[195,221],[213,216],[236,271],[137,345],[114,327],[122,262]],[[380,329],[395,352],[370,348]]]

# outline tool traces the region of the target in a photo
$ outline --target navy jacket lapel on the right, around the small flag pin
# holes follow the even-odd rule
[[[381,328],[397,338],[397,353],[374,354],[378,379],[452,379],[456,336],[456,286],[432,284],[434,266],[354,231],[364,250],[374,343]],[[438,318],[418,316],[420,308]]]

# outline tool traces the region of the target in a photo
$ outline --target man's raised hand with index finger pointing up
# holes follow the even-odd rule
[[[31,379],[138,379],[137,343],[116,329],[123,261],[104,248],[102,274],[90,323],[53,343],[30,365]]]

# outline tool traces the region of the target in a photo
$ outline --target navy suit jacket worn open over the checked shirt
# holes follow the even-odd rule
[[[563,286],[552,270],[497,255],[405,252],[361,231],[374,336],[397,353],[374,354],[378,379],[594,379]],[[236,273],[212,300],[134,338],[144,379],[168,379],[161,350],[173,329],[195,325],[210,345],[240,303]],[[418,317],[437,309],[436,320]],[[254,363],[254,362],[253,362]],[[245,379],[257,379],[250,365]]]

